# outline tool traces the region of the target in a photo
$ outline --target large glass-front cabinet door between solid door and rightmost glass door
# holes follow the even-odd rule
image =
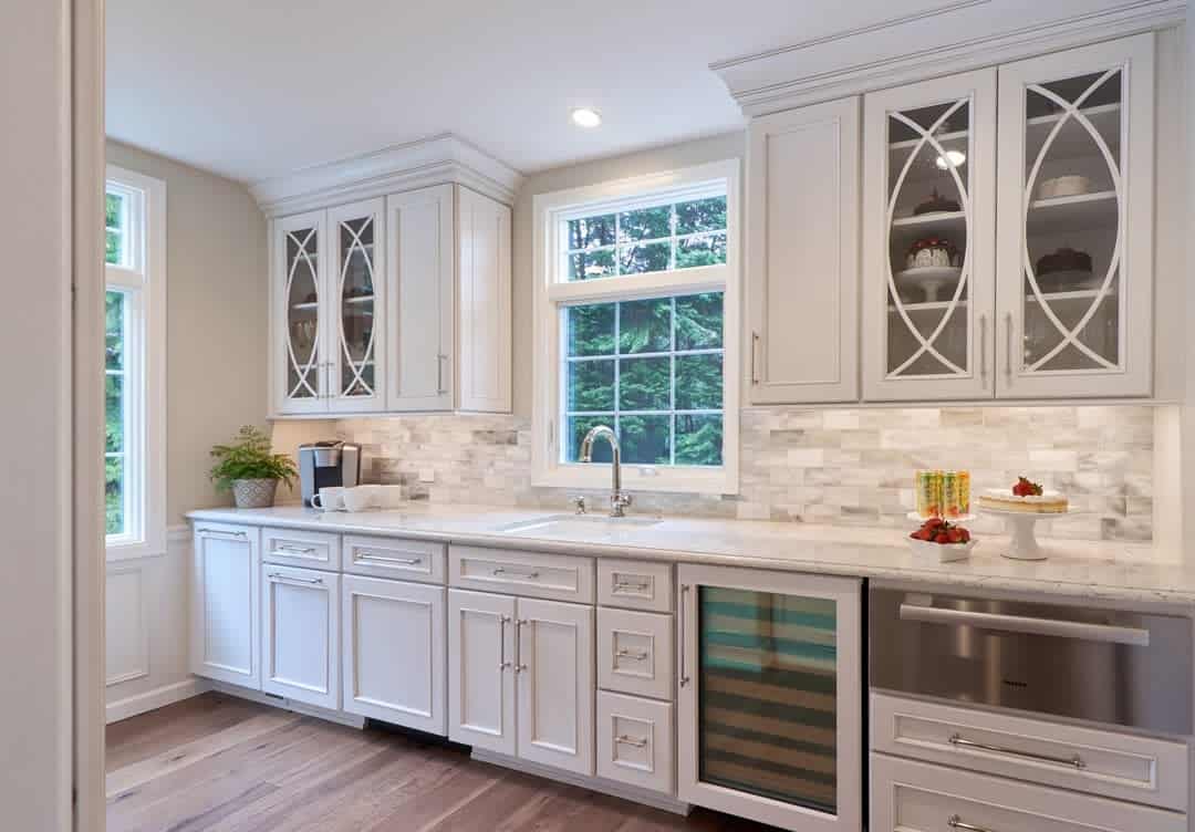
[[[864,394],[993,394],[995,69],[864,99]]]

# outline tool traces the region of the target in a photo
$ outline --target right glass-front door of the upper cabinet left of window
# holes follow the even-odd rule
[[[341,206],[327,213],[331,268],[327,280],[329,409],[381,410],[382,326],[386,308],[382,200]]]

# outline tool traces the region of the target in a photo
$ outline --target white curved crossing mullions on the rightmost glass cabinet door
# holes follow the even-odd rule
[[[1025,87],[1028,92],[1042,96],[1052,104],[1060,108],[1062,112],[1058,122],[1054,124],[1049,134],[1046,136],[1046,140],[1042,142],[1042,147],[1037,152],[1037,158],[1034,159],[1032,166],[1029,170],[1029,173],[1025,179],[1024,204],[1022,214],[1027,228],[1027,233],[1023,237],[1024,245],[1022,246],[1025,279],[1037,302],[1037,306],[1041,308],[1042,314],[1055,328],[1058,334],[1061,336],[1061,339],[1053,348],[1050,348],[1043,355],[1037,357],[1031,365],[1027,366],[1024,368],[1024,372],[1031,373],[1040,371],[1068,345],[1076,348],[1083,355],[1091,359],[1097,365],[1097,367],[1107,369],[1117,369],[1120,366],[1119,360],[1109,361],[1107,357],[1099,355],[1096,350],[1091,349],[1091,347],[1085,344],[1080,338],[1080,334],[1085,330],[1087,324],[1099,311],[1099,307],[1103,304],[1104,299],[1109,296],[1109,289],[1111,288],[1111,285],[1116,279],[1116,274],[1117,270],[1120,269],[1123,256],[1123,231],[1124,231],[1124,194],[1123,194],[1123,178],[1121,176],[1120,161],[1116,159],[1116,155],[1113,153],[1111,148],[1108,146],[1108,142],[1104,140],[1099,130],[1095,127],[1095,124],[1092,124],[1091,120],[1089,120],[1087,116],[1081,111],[1081,108],[1084,103],[1091,96],[1093,96],[1096,91],[1099,90],[1105,82],[1108,82],[1113,78],[1119,78],[1120,72],[1121,72],[1120,68],[1114,68],[1103,73],[1086,90],[1084,90],[1083,93],[1079,94],[1073,103],[1066,100],[1064,97],[1059,96],[1056,92],[1049,90],[1044,85],[1030,84],[1029,86]],[[1038,282],[1037,270],[1035,269],[1032,263],[1032,257],[1029,253],[1029,235],[1028,235],[1029,212],[1032,208],[1034,194],[1036,190],[1037,178],[1041,175],[1042,165],[1044,164],[1049,154],[1049,151],[1054,146],[1054,142],[1061,134],[1064,127],[1066,127],[1066,124],[1071,120],[1074,120],[1074,122],[1080,124],[1083,129],[1086,130],[1087,135],[1095,142],[1095,146],[1098,149],[1101,158],[1108,165],[1108,173],[1111,178],[1113,191],[1116,198],[1116,237],[1113,246],[1113,253],[1111,257],[1109,258],[1108,268],[1104,273],[1104,276],[1099,283],[1099,289],[1096,292],[1095,296],[1091,299],[1091,304],[1087,306],[1086,311],[1083,313],[1083,316],[1079,318],[1078,323],[1074,326],[1067,326],[1065,323],[1062,323],[1059,314],[1052,306],[1050,299],[1046,296],[1044,292],[1042,292],[1041,285]]]

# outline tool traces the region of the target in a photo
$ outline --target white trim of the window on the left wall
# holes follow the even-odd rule
[[[108,561],[166,552],[166,183],[109,165],[105,190],[125,194],[125,264],[105,263],[105,283],[128,289],[125,324],[125,532],[109,536]],[[133,379],[133,384],[129,384]],[[139,383],[140,381],[140,383]],[[139,463],[129,466],[129,459]]]

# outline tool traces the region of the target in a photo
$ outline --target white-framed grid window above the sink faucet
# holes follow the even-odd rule
[[[737,490],[737,160],[535,197],[538,484],[607,487],[606,424],[629,488]]]

